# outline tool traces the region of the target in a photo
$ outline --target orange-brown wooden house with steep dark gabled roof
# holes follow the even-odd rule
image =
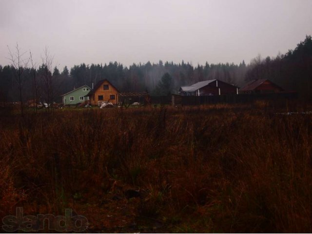
[[[119,91],[107,79],[102,79],[94,86],[94,89],[87,95],[91,105],[97,105],[98,101],[108,101],[117,104]]]

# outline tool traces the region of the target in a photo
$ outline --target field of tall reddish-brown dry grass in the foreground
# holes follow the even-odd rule
[[[0,129],[0,218],[72,208],[89,232],[312,232],[312,115],[92,109],[2,115]]]

